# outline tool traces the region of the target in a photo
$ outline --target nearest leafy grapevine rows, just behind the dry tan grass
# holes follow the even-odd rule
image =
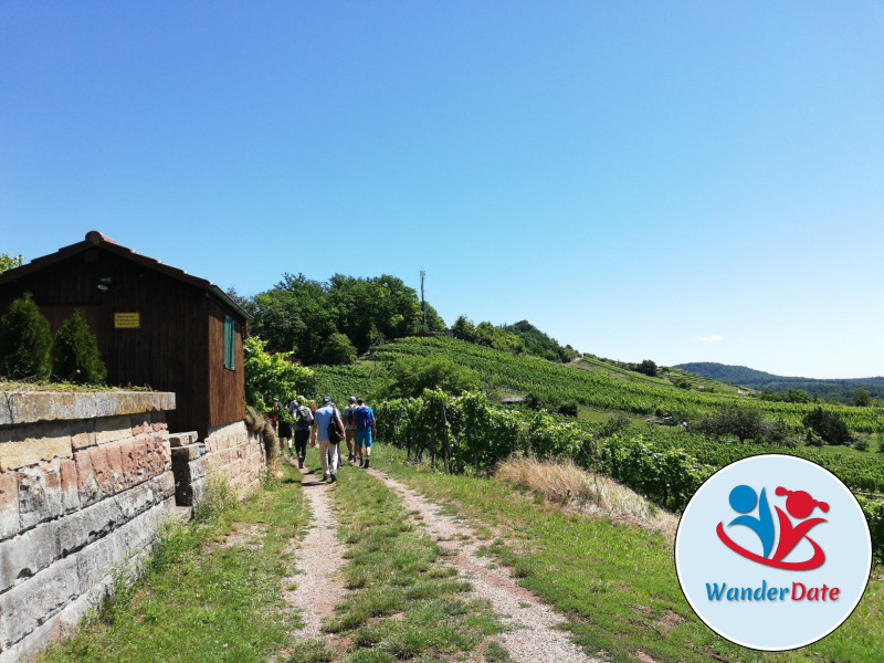
[[[716,470],[758,453],[791,453],[814,461],[839,476],[848,487],[881,492],[882,460],[824,454],[812,449],[724,445],[696,435],[680,435],[690,451],[665,434],[606,436],[604,424],[565,420],[547,412],[505,410],[483,396],[453,397],[424,391],[422,398],[383,402],[376,407],[378,436],[406,449],[415,461],[452,473],[486,473],[509,455],[571,459],[610,476],[670,511],[682,511],[694,492]],[[884,557],[884,501],[857,497],[872,532],[876,560]]]

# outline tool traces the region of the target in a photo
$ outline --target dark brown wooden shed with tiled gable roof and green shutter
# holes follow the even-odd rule
[[[171,431],[243,419],[242,339],[249,315],[213,283],[120,246],[99,232],[0,274],[0,314],[25,292],[54,334],[83,312],[107,383],[175,391]]]

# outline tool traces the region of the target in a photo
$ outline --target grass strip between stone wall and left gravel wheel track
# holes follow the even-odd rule
[[[203,519],[170,524],[141,580],[40,662],[272,660],[298,623],[280,588],[308,517],[299,480],[285,470],[242,505],[214,483]]]

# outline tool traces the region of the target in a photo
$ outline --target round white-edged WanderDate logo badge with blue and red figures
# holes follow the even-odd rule
[[[757,455],[713,474],[675,536],[687,602],[743,646],[783,651],[834,631],[865,591],[872,539],[856,498],[828,470]]]

